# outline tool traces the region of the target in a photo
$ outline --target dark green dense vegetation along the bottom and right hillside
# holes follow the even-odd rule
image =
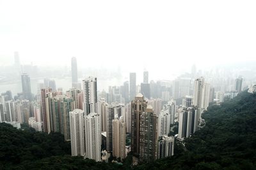
[[[70,144],[58,133],[17,130],[0,124],[0,169],[255,169],[256,94],[210,106],[202,115],[205,127],[184,143],[175,143],[175,155],[131,167],[70,157]],[[186,147],[184,147],[186,146]]]

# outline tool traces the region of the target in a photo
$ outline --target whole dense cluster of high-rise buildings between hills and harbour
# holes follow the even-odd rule
[[[60,132],[71,143],[72,156],[96,161],[110,155],[125,159],[132,152],[139,162],[151,162],[174,154],[175,137],[170,131],[179,122],[177,139],[198,131],[201,115],[210,103],[232,99],[241,92],[242,78],[235,89],[216,91],[203,77],[177,78],[174,81],[136,83],[136,73],[121,86],[97,90],[97,78],[79,83],[77,60],[72,58],[72,88],[63,92],[54,80],[45,79],[33,96],[29,75],[21,75],[22,93],[0,96],[0,122],[26,123],[36,131]],[[130,136],[130,137],[129,137]]]

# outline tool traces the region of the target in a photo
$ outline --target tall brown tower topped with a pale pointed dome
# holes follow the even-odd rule
[[[146,108],[147,101],[142,94],[137,94],[131,103],[131,151],[137,156],[140,154],[140,119]]]

